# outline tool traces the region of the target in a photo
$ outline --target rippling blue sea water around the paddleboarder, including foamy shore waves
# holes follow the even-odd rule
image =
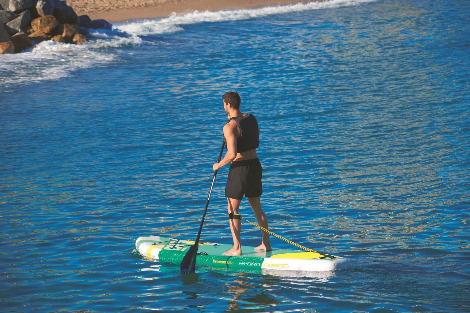
[[[469,16],[335,0],[0,56],[1,312],[469,312]],[[135,251],[196,237],[228,90],[258,118],[270,229],[351,268],[188,276]],[[226,175],[204,241],[231,243]]]

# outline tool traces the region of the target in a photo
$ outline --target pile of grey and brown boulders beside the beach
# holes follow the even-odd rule
[[[0,54],[17,53],[41,41],[83,45],[89,29],[111,29],[105,20],[78,16],[62,0],[0,0]]]

